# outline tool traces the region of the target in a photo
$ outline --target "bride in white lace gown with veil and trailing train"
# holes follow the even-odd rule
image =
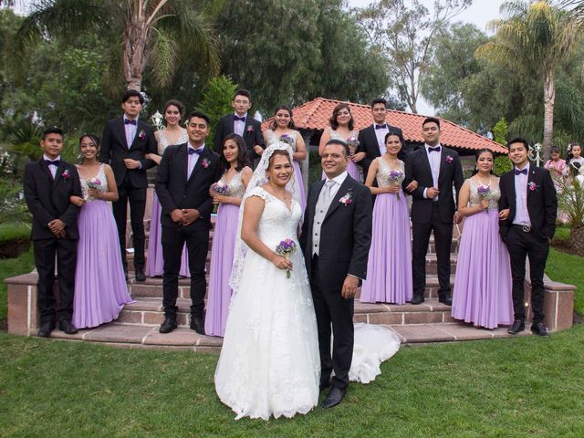
[[[240,210],[230,279],[234,295],[215,391],[243,417],[292,417],[318,403],[318,333],[304,260],[297,241],[302,216],[292,150],[276,142],[264,151]],[[276,246],[291,239],[289,259]],[[391,330],[357,325],[351,380],[369,382],[400,340]]]

